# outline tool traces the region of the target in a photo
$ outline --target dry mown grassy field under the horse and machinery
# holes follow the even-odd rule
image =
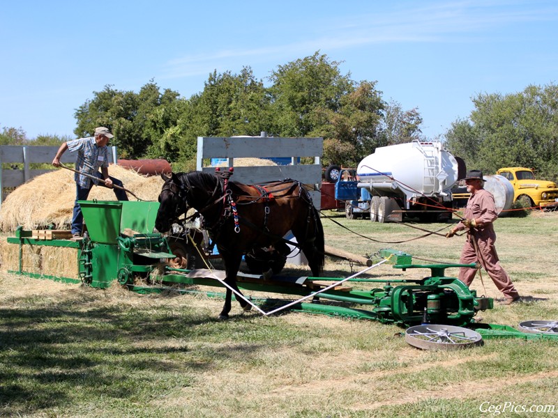
[[[399,224],[347,221],[377,241],[422,235]],[[432,231],[448,224],[421,224]],[[324,219],[326,244],[356,254],[400,249],[457,262],[464,237],[374,242]],[[497,249],[526,302],[481,313],[516,327],[558,320],[558,213],[497,221]],[[444,232],[447,231],[444,230]],[[294,274],[308,270],[290,267]],[[359,266],[326,263],[328,276]],[[413,277],[388,265],[372,277]],[[457,270],[448,270],[457,274]],[[492,281],[479,294],[500,299]],[[485,417],[558,415],[558,342],[487,340],[458,352],[423,351],[401,328],[288,313],[219,322],[222,300],[137,295],[0,275],[0,415],[22,417]],[[538,408],[538,409],[537,409]],[[548,412],[548,408],[546,410]],[[515,410],[515,412],[513,412]]]

